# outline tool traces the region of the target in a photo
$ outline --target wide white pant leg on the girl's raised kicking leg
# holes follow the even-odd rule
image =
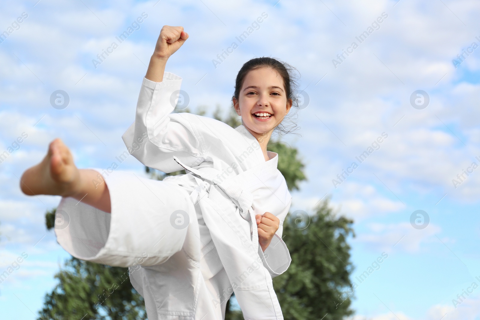
[[[156,265],[182,249],[188,228],[176,228],[170,220],[177,210],[196,219],[185,190],[122,171],[104,178],[111,213],[70,197],[61,199],[55,234],[63,249],[78,259],[121,267]]]

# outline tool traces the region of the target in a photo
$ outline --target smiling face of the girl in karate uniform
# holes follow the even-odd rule
[[[232,100],[242,124],[257,135],[271,133],[292,106],[282,77],[266,67],[249,71],[243,80],[239,99],[234,97]]]

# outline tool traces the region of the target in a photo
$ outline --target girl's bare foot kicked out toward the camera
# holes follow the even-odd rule
[[[27,195],[50,194],[70,197],[80,185],[80,172],[68,147],[57,138],[48,146],[48,153],[36,166],[25,170],[20,189]]]

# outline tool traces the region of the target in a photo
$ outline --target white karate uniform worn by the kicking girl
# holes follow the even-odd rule
[[[157,181],[93,168],[103,172],[111,213],[62,198],[57,240],[76,258],[130,267],[149,320],[224,319],[232,292],[245,319],[283,319],[272,277],[291,261],[281,238],[291,196],[278,155],[265,161],[242,125],[171,114],[180,84],[170,72],[160,83],[144,78],[122,139],[145,166],[187,174]],[[254,215],[265,212],[280,226],[263,252]]]

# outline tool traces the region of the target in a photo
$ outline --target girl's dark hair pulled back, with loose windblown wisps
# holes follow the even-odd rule
[[[276,126],[276,128],[274,129],[274,133],[277,133],[279,136],[282,136],[284,134],[287,134],[299,129],[297,128],[297,125],[293,121],[290,121],[290,118],[292,118],[293,114],[296,114],[296,111],[299,108],[299,104],[298,104],[299,99],[297,95],[297,90],[298,90],[297,80],[300,78],[300,76],[297,77],[296,73],[294,72],[296,70],[294,67],[290,66],[288,63],[283,62],[279,59],[270,58],[270,57],[260,57],[260,58],[253,58],[245,62],[243,66],[240,68],[240,71],[237,74],[237,79],[235,80],[235,92],[232,96],[232,105],[233,105],[234,97],[235,99],[237,99],[237,101],[239,101],[240,89],[243,85],[243,81],[245,80],[245,76],[247,75],[247,73],[249,71],[257,70],[263,67],[271,68],[276,72],[278,72],[278,74],[283,79],[283,85],[285,87],[285,93],[287,95],[287,103],[288,103],[288,99],[292,99],[292,107],[288,112],[288,115],[285,116],[283,121]],[[292,112],[294,111],[292,109],[294,109],[295,112]],[[290,122],[290,123],[285,124],[285,122]]]

